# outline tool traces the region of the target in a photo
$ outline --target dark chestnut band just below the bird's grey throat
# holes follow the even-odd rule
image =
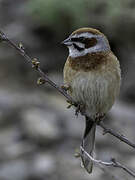
[[[69,66],[76,71],[91,71],[98,69],[101,65],[106,63],[106,56],[109,54],[107,52],[97,52],[97,53],[89,53],[80,57],[68,57]]]

